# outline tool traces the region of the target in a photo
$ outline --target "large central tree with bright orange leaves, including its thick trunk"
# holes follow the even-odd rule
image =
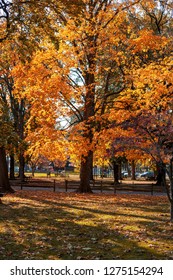
[[[133,116],[131,110],[137,116],[142,110],[142,100],[151,98],[152,101],[147,92],[153,85],[145,83],[142,91],[140,83],[144,82],[142,79],[146,79],[146,75],[141,73],[143,69],[150,72],[152,63],[163,61],[171,45],[169,37],[155,31],[158,23],[161,30],[161,19],[164,18],[164,26],[167,22],[160,13],[162,2],[159,2],[125,1],[117,4],[86,0],[81,1],[78,15],[65,10],[61,16],[60,10],[57,12],[51,2],[48,18],[54,31],[57,30],[54,36],[58,46],[51,44],[52,39],[44,37],[33,60],[25,67],[16,67],[17,84],[24,86],[23,94],[32,103],[31,115],[35,118],[34,112],[39,114],[39,131],[44,122],[51,123],[55,119],[62,123],[64,118],[69,124],[66,126],[66,139],[70,143],[68,152],[75,150],[81,157],[81,192],[91,191],[93,151],[105,129],[111,127],[113,130],[123,121],[127,128],[128,114],[130,118]],[[137,3],[139,15],[133,9]],[[155,21],[149,25],[153,12]],[[168,12],[165,14],[169,16]],[[57,15],[60,16],[58,24]],[[165,27],[162,29],[165,32]],[[134,106],[130,100],[135,101]],[[121,115],[122,110],[124,115]],[[55,112],[54,116],[52,112]],[[128,129],[124,135],[126,138],[129,131],[133,131]]]

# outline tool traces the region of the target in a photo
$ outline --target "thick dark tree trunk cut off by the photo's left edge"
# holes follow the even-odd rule
[[[8,179],[8,166],[4,147],[0,147],[0,188],[4,192],[14,192]]]

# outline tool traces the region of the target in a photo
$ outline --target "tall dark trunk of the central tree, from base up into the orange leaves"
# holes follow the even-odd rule
[[[90,14],[93,17],[93,14]],[[87,35],[87,68],[83,72],[85,81],[85,104],[82,121],[84,125],[83,138],[86,143],[92,144],[93,132],[95,125],[93,116],[95,115],[95,72],[96,72],[96,36]],[[80,61],[83,66],[83,61]],[[92,192],[90,180],[93,179],[93,151],[89,150],[87,155],[82,155],[80,169],[80,187],[79,192]]]

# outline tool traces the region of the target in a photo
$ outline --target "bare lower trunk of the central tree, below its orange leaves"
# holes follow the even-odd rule
[[[89,151],[87,156],[83,156],[80,169],[80,186],[77,192],[91,193],[90,179],[92,168],[93,152]]]

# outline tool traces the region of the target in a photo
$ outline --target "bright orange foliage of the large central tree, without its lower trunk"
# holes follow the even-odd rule
[[[168,84],[172,79],[166,60],[165,66],[160,66],[160,61],[144,65],[142,60],[162,54],[169,39],[154,35],[148,28],[136,32],[139,30],[136,23],[132,22],[127,10],[121,9],[127,1],[115,2],[107,1],[105,5],[104,1],[98,1],[94,6],[86,0],[81,13],[67,16],[64,25],[57,24],[53,18],[51,22],[58,30],[55,36],[59,38],[59,49],[44,38],[30,63],[17,63],[14,67],[15,91],[19,96],[27,97],[30,103],[31,118],[27,129],[32,152],[35,149],[38,154],[44,153],[50,158],[56,154],[63,157],[62,149],[69,154],[75,153],[76,158],[86,155],[89,149],[95,151],[97,146],[100,153],[105,152],[113,137],[133,134],[130,129],[122,131],[118,127],[98,132],[107,120],[119,125],[129,117],[135,117],[140,110],[149,110],[151,105],[166,107],[170,93]],[[129,6],[133,2],[128,1]],[[150,2],[154,3],[147,1],[145,7],[148,9],[153,5]],[[131,11],[136,12],[135,9]],[[139,13],[141,20],[142,15]],[[145,23],[140,27],[143,26]],[[125,90],[114,100],[111,92],[124,84]],[[68,146],[65,146],[64,135],[57,135],[54,131],[56,121],[63,117],[71,122],[81,120],[83,108],[91,103],[86,98],[88,92],[92,92],[97,103],[88,110],[93,115],[96,110],[97,114],[102,113],[100,108],[110,93],[107,115],[102,116],[103,121],[94,116],[88,123],[81,122],[69,129]],[[114,108],[109,111],[113,103]]]

